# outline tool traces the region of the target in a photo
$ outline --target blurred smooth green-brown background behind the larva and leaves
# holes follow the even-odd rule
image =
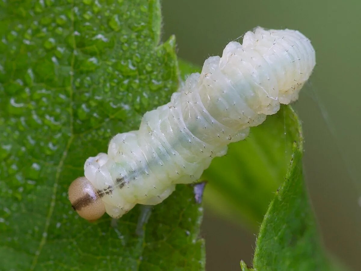
[[[293,106],[303,121],[305,178],[323,242],[352,270],[361,268],[360,13],[356,0],[162,1],[163,40],[175,34],[178,56],[198,65],[258,25],[311,39],[317,66]],[[251,264],[256,233],[206,206],[206,269]]]

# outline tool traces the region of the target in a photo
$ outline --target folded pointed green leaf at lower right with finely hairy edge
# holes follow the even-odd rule
[[[286,180],[277,190],[258,233],[256,270],[331,270],[321,246],[302,173],[303,137],[297,115],[284,107],[294,139]]]

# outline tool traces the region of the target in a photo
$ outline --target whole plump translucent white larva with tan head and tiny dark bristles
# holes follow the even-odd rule
[[[176,184],[195,182],[251,126],[297,100],[315,64],[310,40],[299,31],[248,31],[243,44],[230,42],[222,57],[205,60],[168,104],[146,112],[139,130],[117,134],[108,154],[88,158],[84,176],[69,187],[72,207],[96,220],[164,201]]]

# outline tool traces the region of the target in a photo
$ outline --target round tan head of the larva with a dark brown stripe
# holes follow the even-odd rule
[[[76,178],[68,190],[71,207],[89,221],[100,218],[105,213],[105,206],[95,187],[86,177]]]

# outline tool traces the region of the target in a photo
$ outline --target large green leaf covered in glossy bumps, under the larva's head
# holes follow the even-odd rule
[[[86,158],[177,89],[158,1],[2,1],[0,18],[1,268],[204,269],[190,186],[138,228],[139,206],[116,224],[88,223],[67,199]]]

